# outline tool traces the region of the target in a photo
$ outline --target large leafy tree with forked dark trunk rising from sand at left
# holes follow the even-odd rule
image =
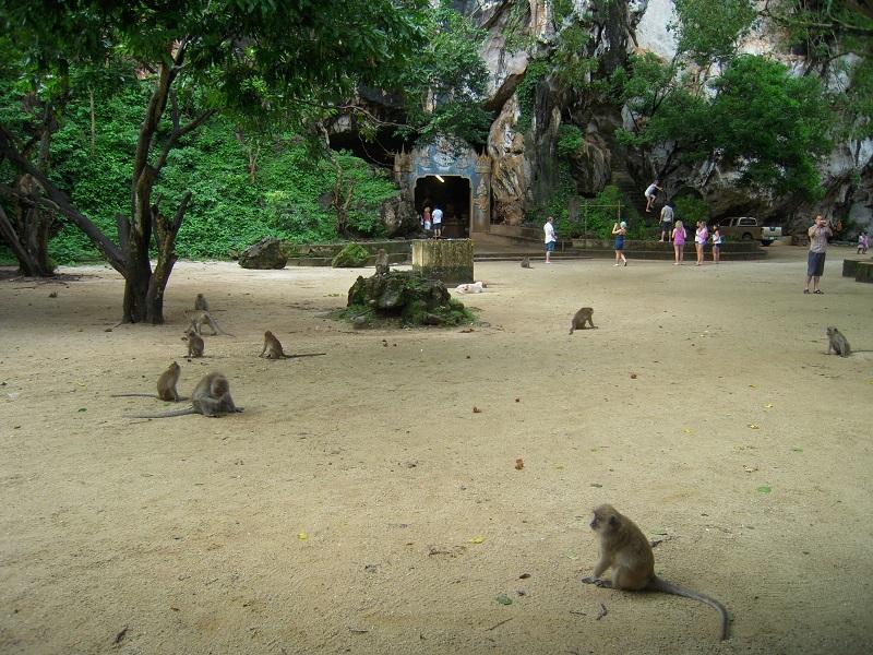
[[[27,144],[5,122],[0,157],[41,187],[39,195],[26,196],[29,202],[62,213],[124,276],[122,320],[163,323],[174,243],[191,201],[183,195],[169,217],[153,198],[170,152],[219,110],[280,112],[302,122],[312,107],[337,104],[357,85],[397,80],[420,40],[423,7],[423,0],[9,3],[0,26],[16,47],[34,53],[40,70],[123,57],[139,62],[153,87],[133,157],[130,213],[117,217],[118,242],[34,165]]]

